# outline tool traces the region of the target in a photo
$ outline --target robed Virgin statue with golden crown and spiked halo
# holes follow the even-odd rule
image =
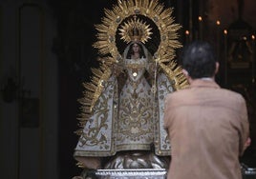
[[[84,83],[74,157],[85,169],[168,169],[164,97],[187,85],[172,9],[158,1],[119,0],[105,10],[94,47],[99,69]]]

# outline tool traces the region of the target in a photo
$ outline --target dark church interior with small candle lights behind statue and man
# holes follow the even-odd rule
[[[129,1],[129,0],[128,0]],[[241,163],[256,178],[255,0],[159,0],[173,8],[179,41],[210,42],[216,81],[246,100],[251,145]],[[1,176],[71,179],[82,83],[98,67],[96,24],[117,0],[1,0]],[[182,48],[181,48],[182,49]],[[181,49],[177,50],[180,63]],[[218,147],[217,147],[218,148]]]

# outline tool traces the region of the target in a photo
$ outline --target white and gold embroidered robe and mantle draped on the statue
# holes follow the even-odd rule
[[[124,84],[113,72],[84,126],[75,156],[112,156],[121,150],[152,148],[157,155],[170,154],[162,113],[164,97],[173,88],[163,72],[151,70],[151,54],[142,47],[145,56],[138,59],[125,58],[130,45],[124,50],[120,62]]]

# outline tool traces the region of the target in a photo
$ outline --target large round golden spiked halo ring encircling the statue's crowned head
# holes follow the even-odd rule
[[[145,16],[156,24],[160,30],[160,45],[154,56],[160,57],[158,62],[170,62],[175,57],[175,49],[181,48],[177,32],[181,26],[174,23],[172,9],[164,9],[158,0],[118,0],[113,10],[105,10],[102,24],[96,25],[97,41],[93,45],[99,54],[111,54],[115,60],[120,58],[116,44],[117,29],[125,18],[133,15]]]

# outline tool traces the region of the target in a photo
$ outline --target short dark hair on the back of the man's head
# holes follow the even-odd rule
[[[212,46],[203,41],[194,41],[183,50],[182,68],[192,79],[212,77],[216,69],[216,56]]]

